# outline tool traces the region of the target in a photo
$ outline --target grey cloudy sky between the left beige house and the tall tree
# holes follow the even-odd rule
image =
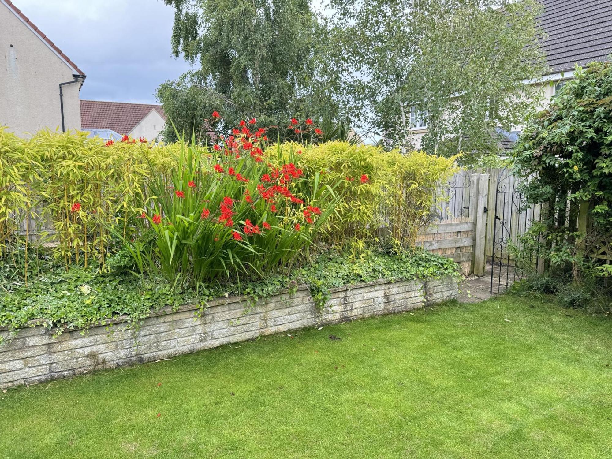
[[[174,11],[161,0],[13,0],[87,75],[81,99],[156,103],[189,69],[174,59]]]

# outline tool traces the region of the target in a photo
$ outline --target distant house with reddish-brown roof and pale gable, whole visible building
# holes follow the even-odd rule
[[[165,124],[161,105],[81,100],[81,129],[89,131],[91,136],[117,140],[129,135],[159,140]]]

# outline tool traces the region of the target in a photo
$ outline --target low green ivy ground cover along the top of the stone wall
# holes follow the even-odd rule
[[[26,286],[23,280],[10,277],[6,267],[0,263],[0,281],[4,286],[0,291],[0,327],[17,330],[35,321],[58,327],[56,333],[65,328],[108,323],[122,315],[137,323],[162,307],[177,308],[184,304],[205,307],[207,300],[225,295],[244,294],[256,302],[261,297],[294,289],[298,283],[305,283],[318,304],[323,305],[329,297],[329,288],[335,286],[381,278],[408,280],[457,275],[452,260],[420,251],[398,255],[365,252],[359,258],[327,253],[290,273],[264,279],[242,278],[241,282],[233,277],[222,283],[203,282],[197,288],[176,285],[166,277],[139,277],[125,271],[105,274],[79,268],[68,272],[45,271]]]

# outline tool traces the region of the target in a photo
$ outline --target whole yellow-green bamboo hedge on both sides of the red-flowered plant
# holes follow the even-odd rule
[[[4,253],[6,242],[14,240],[20,223],[26,232],[40,233],[40,228],[24,225],[31,215],[39,225],[51,223],[53,253],[66,265],[91,259],[104,263],[108,228],[130,237],[130,219],[138,218],[152,198],[146,192],[151,174],[168,177],[178,166],[181,148],[181,143],[138,141],[106,145],[78,132],[42,131],[22,139],[0,129],[0,250]],[[210,152],[206,147],[196,151]],[[397,247],[411,247],[428,222],[438,184],[455,171],[453,158],[403,155],[342,141],[271,146],[266,154],[271,162],[293,160],[312,180],[320,173],[318,186],[340,193],[323,231],[328,244],[363,245],[384,226]],[[292,191],[310,202],[312,189]],[[80,212],[72,212],[76,203]]]

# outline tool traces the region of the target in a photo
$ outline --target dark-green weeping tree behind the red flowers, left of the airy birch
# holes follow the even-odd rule
[[[157,91],[179,133],[208,135],[213,110],[223,111],[226,127],[253,117],[277,125],[282,139],[292,116],[337,118],[315,79],[319,26],[306,0],[164,1],[174,9],[174,56],[200,65]],[[163,136],[177,140],[168,124]]]

